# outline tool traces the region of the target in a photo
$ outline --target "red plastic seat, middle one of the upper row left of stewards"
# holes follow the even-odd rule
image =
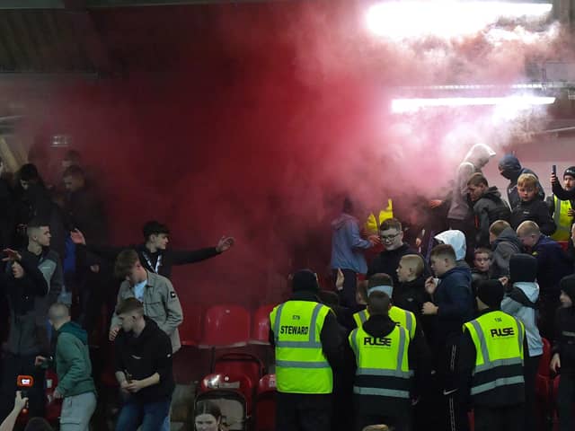
[[[200,348],[242,347],[250,339],[250,313],[240,305],[216,305],[204,316]]]

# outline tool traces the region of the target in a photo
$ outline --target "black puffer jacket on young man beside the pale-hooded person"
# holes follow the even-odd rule
[[[497,220],[509,222],[511,210],[501,199],[497,187],[487,189],[473,204],[473,217],[475,222],[475,242],[477,247],[489,247],[489,226]]]

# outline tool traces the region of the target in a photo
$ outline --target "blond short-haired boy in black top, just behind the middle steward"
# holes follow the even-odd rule
[[[425,292],[424,270],[425,264],[418,254],[406,254],[397,267],[399,286],[394,289],[394,304],[416,316],[421,315],[423,303],[429,301],[429,295]]]

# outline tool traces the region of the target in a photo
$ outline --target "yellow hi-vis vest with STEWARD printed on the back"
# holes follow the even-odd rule
[[[320,339],[328,312],[329,307],[313,301],[280,303],[270,312],[278,391],[332,393],[332,367]]]

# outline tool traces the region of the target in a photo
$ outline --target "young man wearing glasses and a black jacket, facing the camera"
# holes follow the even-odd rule
[[[389,274],[394,278],[394,285],[397,286],[400,284],[397,277],[397,268],[403,256],[408,254],[421,255],[411,249],[409,244],[403,242],[402,224],[396,218],[388,218],[379,226],[379,239],[384,244],[384,251],[379,253],[369,265],[367,277],[377,273]],[[422,256],[421,259],[423,259]],[[424,277],[427,276],[429,276],[429,269],[426,267]]]

